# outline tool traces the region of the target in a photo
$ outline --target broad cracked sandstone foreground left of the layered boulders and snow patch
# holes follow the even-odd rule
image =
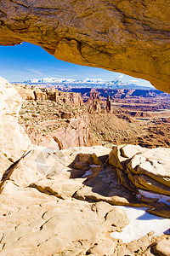
[[[127,245],[109,236],[128,224],[122,209],[112,205],[146,207],[155,203],[145,204],[118,184],[116,168],[105,164],[110,152],[100,146],[32,147],[11,166],[0,188],[0,255],[38,256],[45,250],[50,256],[110,256],[149,250],[156,238]],[[99,173],[81,177],[82,170],[73,168],[81,161],[91,170],[99,167]]]

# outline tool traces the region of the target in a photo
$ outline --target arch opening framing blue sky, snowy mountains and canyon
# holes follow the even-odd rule
[[[72,142],[73,145],[101,144],[111,147],[112,144],[131,143],[147,148],[169,147],[169,96],[155,90],[147,81],[57,61],[31,44],[9,49],[8,55],[12,55],[14,49],[14,58],[18,55],[19,62],[24,67],[25,78],[22,79],[23,70],[15,62],[18,78],[22,81],[15,82],[14,86],[26,99],[20,112],[20,124],[24,125],[32,143],[54,147],[55,143],[51,142],[56,137],[53,131],[57,130],[59,136],[63,128],[64,134],[58,137],[60,143],[71,129],[76,137],[81,133],[81,139],[77,138],[77,141],[84,142]],[[26,49],[27,55],[23,55]],[[42,63],[38,66],[40,60]],[[22,61],[25,61],[24,65],[27,67],[23,66]],[[4,63],[5,61],[3,65]],[[58,78],[55,78],[55,73]],[[48,78],[44,79],[45,76]],[[110,104],[112,111],[105,110],[108,96],[111,97],[108,106]],[[44,107],[44,104],[47,106]],[[85,113],[83,117],[82,109]],[[74,118],[83,119],[83,125],[79,121],[76,126],[72,124]],[[58,121],[59,119],[62,121]],[[39,124],[42,125],[40,129]],[[71,137],[70,134],[68,136]],[[71,143],[66,144],[65,147],[71,146]]]

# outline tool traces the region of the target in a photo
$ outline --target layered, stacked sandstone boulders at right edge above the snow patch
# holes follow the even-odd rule
[[[169,157],[169,148],[148,149],[122,145],[113,147],[108,162],[115,166],[120,183],[130,191],[138,194],[138,190],[143,189],[151,193],[170,195]],[[157,202],[150,199],[151,195],[140,197],[141,201],[153,206],[148,212],[169,218],[169,205],[158,202],[158,199]]]

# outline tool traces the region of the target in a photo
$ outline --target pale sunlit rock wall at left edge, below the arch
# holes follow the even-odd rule
[[[22,99],[7,80],[0,78],[0,155],[3,174],[14,161],[26,153],[31,142],[17,123]]]

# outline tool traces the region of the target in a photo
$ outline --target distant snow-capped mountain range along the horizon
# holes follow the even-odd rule
[[[123,82],[120,79],[112,81],[105,81],[102,79],[58,79],[58,78],[43,78],[43,79],[31,79],[27,80],[26,84],[53,84],[55,87],[62,86],[62,88],[68,87],[91,87],[91,88],[107,88],[107,89],[150,89],[150,87],[139,86],[138,84],[132,84]]]

